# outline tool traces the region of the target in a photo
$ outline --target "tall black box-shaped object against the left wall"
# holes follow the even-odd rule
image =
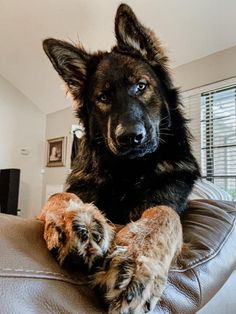
[[[0,170],[0,212],[17,215],[20,169]]]

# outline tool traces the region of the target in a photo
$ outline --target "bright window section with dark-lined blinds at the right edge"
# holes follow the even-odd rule
[[[201,165],[236,199],[236,85],[201,94]]]

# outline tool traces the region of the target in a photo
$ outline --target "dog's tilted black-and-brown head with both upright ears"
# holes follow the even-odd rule
[[[117,10],[115,34],[111,52],[89,54],[55,39],[43,47],[73,96],[88,139],[116,156],[139,158],[153,153],[161,129],[170,127],[169,98],[176,91],[159,40],[125,4]]]

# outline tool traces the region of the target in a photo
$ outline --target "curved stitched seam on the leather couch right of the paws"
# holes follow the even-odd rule
[[[193,269],[194,267],[199,266],[202,263],[207,262],[210,259],[214,258],[216,255],[219,254],[219,252],[221,251],[223,245],[227,242],[227,240],[229,239],[230,235],[233,233],[233,231],[235,229],[235,225],[236,225],[236,218],[233,219],[233,223],[231,225],[230,231],[226,234],[225,238],[223,239],[222,243],[219,245],[219,247],[218,247],[218,249],[216,251],[208,253],[206,256],[204,256],[202,258],[196,259],[196,260],[188,263],[186,265],[186,267],[184,267],[184,269],[172,268],[172,269],[170,269],[170,271],[184,272],[184,271],[187,271],[189,269]]]

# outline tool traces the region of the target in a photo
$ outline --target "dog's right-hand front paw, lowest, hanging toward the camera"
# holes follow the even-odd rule
[[[95,274],[95,285],[105,291],[109,313],[112,314],[152,311],[167,280],[169,265],[163,263],[161,256],[150,254],[152,244],[145,238],[141,239],[140,234],[129,238],[129,244],[119,241],[119,245],[114,246],[103,268]]]

